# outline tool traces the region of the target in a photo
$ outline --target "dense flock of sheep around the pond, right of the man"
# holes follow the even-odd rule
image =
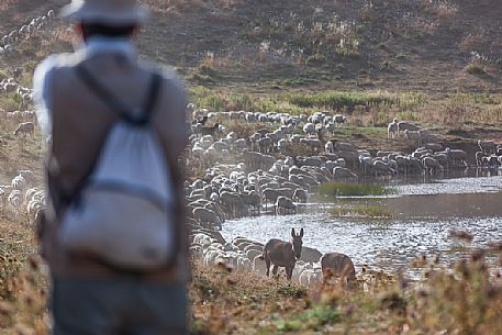
[[[269,205],[275,214],[295,213],[298,204],[308,201],[313,188],[331,180],[438,174],[467,166],[466,152],[444,147],[430,131],[398,120],[389,124],[388,135],[414,142],[416,149],[412,154],[378,152],[371,155],[350,143],[328,139],[346,118],[326,112],[311,116],[244,111],[214,113],[193,105],[188,111],[192,135],[187,159],[191,166],[204,169],[200,179],[186,185],[191,252],[209,266],[223,263],[242,271],[268,273],[263,243],[245,237],[226,242],[217,232],[226,219],[259,215]],[[214,123],[208,125],[209,122]],[[239,138],[222,125],[228,122],[259,123],[264,129],[248,138]],[[291,146],[301,144],[312,150],[312,156],[288,156]],[[502,148],[493,142],[479,141],[478,145],[480,160],[486,157],[502,160]],[[355,279],[355,275],[348,275],[354,269],[348,256],[327,255],[332,255],[331,261],[323,267],[323,255],[303,247],[287,277],[301,284],[313,284],[325,278],[325,268],[331,268],[335,275],[345,271],[346,280]]]

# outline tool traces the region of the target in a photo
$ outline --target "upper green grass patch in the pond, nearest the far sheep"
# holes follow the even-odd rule
[[[319,192],[332,197],[365,197],[394,194],[395,190],[375,183],[328,182],[321,186]]]

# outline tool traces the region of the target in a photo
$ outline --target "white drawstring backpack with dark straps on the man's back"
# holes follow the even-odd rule
[[[178,248],[175,198],[167,159],[148,122],[160,76],[154,75],[146,111],[134,120],[82,66],[77,74],[120,118],[64,212],[60,243],[70,252],[93,255],[119,269],[167,267]]]

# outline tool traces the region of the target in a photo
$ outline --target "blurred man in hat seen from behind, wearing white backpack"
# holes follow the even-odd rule
[[[41,245],[53,334],[188,334],[183,86],[138,63],[132,38],[147,10],[136,1],[74,0],[62,15],[81,45],[45,59],[34,78],[38,121],[52,136]]]

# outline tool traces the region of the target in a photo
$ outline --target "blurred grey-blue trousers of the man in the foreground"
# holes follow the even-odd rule
[[[135,279],[54,279],[53,335],[186,335],[183,286]]]

